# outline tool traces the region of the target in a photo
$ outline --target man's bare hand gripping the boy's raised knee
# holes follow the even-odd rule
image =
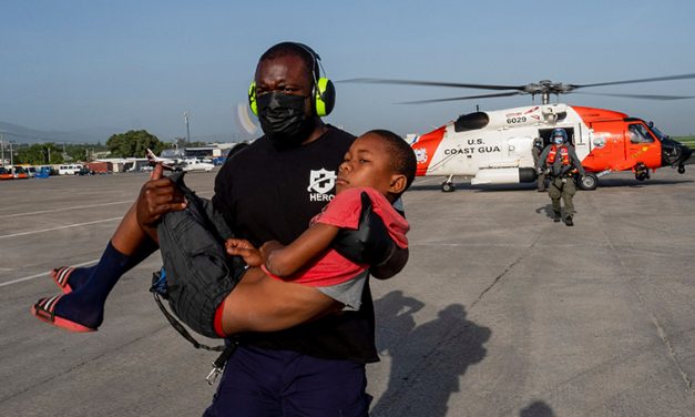
[[[157,164],[137,196],[137,223],[150,235],[164,213],[186,207],[183,193],[162,172],[162,165]]]

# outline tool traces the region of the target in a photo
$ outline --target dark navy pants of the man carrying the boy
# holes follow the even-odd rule
[[[239,346],[204,417],[367,416],[365,365]]]

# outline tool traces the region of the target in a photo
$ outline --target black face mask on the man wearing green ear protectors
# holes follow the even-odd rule
[[[276,148],[299,146],[314,130],[314,118],[304,112],[306,99],[277,91],[256,98],[260,129]]]

